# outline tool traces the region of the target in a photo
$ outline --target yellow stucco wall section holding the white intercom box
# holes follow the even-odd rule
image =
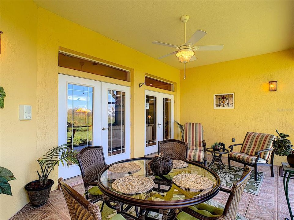
[[[15,7],[17,5],[17,7]],[[0,166],[11,170],[13,196],[0,195],[0,219],[27,203],[24,185],[36,178],[37,6],[27,1],[1,1],[1,73],[5,107],[0,109]],[[19,120],[19,105],[32,105],[32,120]]]

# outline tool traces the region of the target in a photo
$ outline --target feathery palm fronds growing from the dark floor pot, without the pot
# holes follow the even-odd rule
[[[41,171],[37,171],[37,174],[39,176],[40,180],[40,186],[44,187],[48,182],[48,176],[51,173],[51,171],[54,169],[55,165],[57,164],[59,166],[59,163],[61,162],[62,165],[66,163],[69,165],[70,163],[77,164],[78,161],[76,160],[76,154],[78,152],[69,149],[68,145],[61,145],[56,146],[51,149],[49,149],[42,158],[39,158],[37,162],[40,165]]]

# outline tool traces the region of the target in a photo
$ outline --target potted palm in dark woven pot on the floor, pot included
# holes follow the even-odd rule
[[[67,145],[61,145],[49,149],[42,158],[37,160],[40,166],[40,171],[36,171],[39,179],[24,186],[33,206],[41,206],[48,200],[51,187],[54,184],[54,181],[48,177],[55,165],[59,165],[60,162],[63,166],[65,163],[69,165],[69,162],[77,164],[77,153],[73,149],[70,150]]]

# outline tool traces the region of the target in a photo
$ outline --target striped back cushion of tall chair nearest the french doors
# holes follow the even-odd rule
[[[185,123],[184,125],[184,142],[189,146],[203,147],[203,127],[200,123]]]

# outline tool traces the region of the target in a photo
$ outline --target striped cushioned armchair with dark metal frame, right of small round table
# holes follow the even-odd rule
[[[261,134],[247,132],[243,144],[229,146],[231,149],[228,156],[229,169],[231,169],[230,160],[243,163],[255,168],[254,178],[257,180],[257,166],[270,166],[270,172],[274,177],[274,153],[272,143],[275,136],[272,134]],[[242,145],[240,152],[234,152],[233,147]]]

